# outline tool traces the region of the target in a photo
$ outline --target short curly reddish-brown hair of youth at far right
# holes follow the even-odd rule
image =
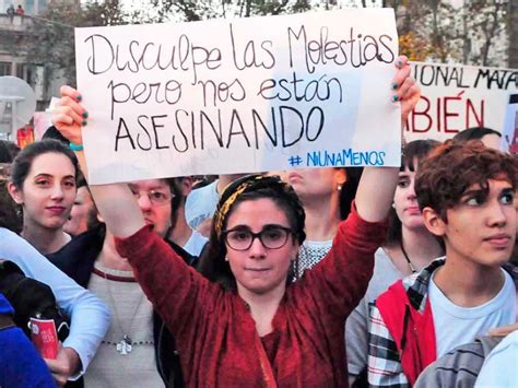
[[[446,211],[457,205],[475,184],[487,190],[487,180],[505,179],[516,189],[518,158],[486,148],[480,140],[446,141],[422,162],[415,178],[420,209],[432,208],[446,222]]]

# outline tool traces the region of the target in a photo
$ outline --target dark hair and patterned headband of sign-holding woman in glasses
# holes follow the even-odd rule
[[[245,188],[244,188],[245,187]],[[243,189],[244,188],[244,189]],[[240,191],[236,198],[236,192]],[[200,257],[198,270],[209,280],[220,283],[225,290],[236,290],[236,279],[231,266],[225,261],[226,245],[222,231],[225,231],[228,216],[244,201],[271,199],[285,214],[293,230],[293,238],[302,244],[306,238],[304,223],[306,215],[295,190],[278,176],[263,177],[248,175],[234,180],[223,192],[212,222],[211,236],[207,249]],[[232,201],[229,208],[228,201]],[[222,217],[221,220],[217,220]],[[217,225],[221,226],[217,226]],[[292,277],[287,277],[291,281]]]

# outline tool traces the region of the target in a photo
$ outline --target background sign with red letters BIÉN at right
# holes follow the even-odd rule
[[[407,140],[447,140],[470,127],[503,131],[508,95],[518,70],[462,64],[412,63],[421,101],[410,114]]]

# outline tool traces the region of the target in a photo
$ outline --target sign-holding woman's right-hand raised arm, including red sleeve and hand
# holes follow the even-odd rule
[[[399,57],[396,67],[396,89],[392,89],[397,98],[392,99],[401,102],[404,122],[419,101],[420,90],[410,77],[405,57]],[[386,236],[384,221],[392,203],[398,173],[399,167],[364,169],[355,205],[348,220],[340,223],[331,250],[305,277],[304,282],[315,282],[309,289],[319,290],[311,297],[318,298],[322,311],[345,318],[365,295],[373,274],[374,254]]]

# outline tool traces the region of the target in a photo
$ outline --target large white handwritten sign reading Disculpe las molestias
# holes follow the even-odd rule
[[[399,165],[390,9],[75,30],[90,181]]]

